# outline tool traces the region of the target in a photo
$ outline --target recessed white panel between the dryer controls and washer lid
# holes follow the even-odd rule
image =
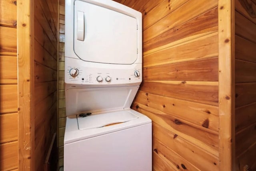
[[[66,89],[66,116],[130,108],[138,88],[139,86]]]

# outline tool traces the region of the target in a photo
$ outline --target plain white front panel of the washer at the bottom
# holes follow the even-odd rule
[[[65,144],[64,171],[152,171],[152,124]]]

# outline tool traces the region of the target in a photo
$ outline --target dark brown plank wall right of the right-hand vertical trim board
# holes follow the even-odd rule
[[[256,2],[235,0],[236,171],[256,170]]]

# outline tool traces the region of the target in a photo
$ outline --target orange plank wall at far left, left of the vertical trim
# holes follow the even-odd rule
[[[17,3],[0,1],[0,170],[18,168]]]

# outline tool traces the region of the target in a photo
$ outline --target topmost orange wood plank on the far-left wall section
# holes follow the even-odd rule
[[[17,27],[17,2],[14,0],[1,0],[0,25]]]

